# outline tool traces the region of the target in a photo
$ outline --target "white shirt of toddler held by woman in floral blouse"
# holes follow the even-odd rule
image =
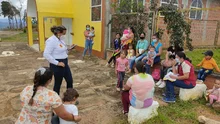
[[[68,104],[68,105],[63,104],[63,105],[67,112],[73,114],[74,116],[78,115],[78,109],[75,105],[73,104]],[[60,124],[76,124],[76,123],[73,121],[65,121],[62,118],[60,118]]]

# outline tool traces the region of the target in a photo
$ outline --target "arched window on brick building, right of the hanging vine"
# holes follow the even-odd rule
[[[191,11],[189,14],[190,19],[202,19],[202,10],[195,10],[195,9],[201,9],[202,8],[202,1],[201,0],[193,0],[191,4]],[[193,10],[194,9],[194,10]]]

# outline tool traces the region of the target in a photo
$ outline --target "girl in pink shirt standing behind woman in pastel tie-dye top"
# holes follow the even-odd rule
[[[123,81],[125,77],[126,68],[128,68],[128,59],[126,58],[127,51],[121,51],[120,57],[116,60],[115,66],[115,74],[118,77],[117,83],[117,91],[122,91],[123,88]]]

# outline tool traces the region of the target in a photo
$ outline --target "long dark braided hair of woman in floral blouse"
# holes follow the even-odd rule
[[[37,88],[39,86],[45,86],[46,83],[52,79],[52,77],[53,77],[53,72],[48,67],[41,67],[35,72],[33,94],[28,103],[30,106],[34,102],[34,96],[37,92]]]

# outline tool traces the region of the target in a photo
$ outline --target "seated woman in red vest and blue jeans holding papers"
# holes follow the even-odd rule
[[[176,68],[177,62],[179,62]],[[190,60],[186,58],[184,52],[178,52],[176,54],[176,61],[172,63],[172,70],[175,75],[170,75],[170,78],[175,79],[175,81],[166,81],[166,96],[163,98],[164,102],[175,102],[174,86],[192,89],[196,86],[196,76],[193,65]]]

